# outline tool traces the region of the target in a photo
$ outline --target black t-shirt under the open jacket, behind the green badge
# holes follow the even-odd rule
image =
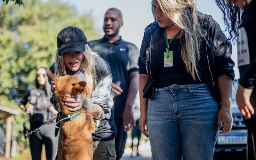
[[[184,40],[183,37],[182,41]],[[169,44],[169,51],[172,51],[172,57],[168,57],[168,60],[172,59],[172,67],[164,67],[164,52],[166,52],[166,42],[164,37],[164,29],[161,28],[159,36],[159,47],[158,47],[158,63],[157,63],[157,75],[154,82],[155,88],[168,87],[172,84],[183,85],[183,84],[197,84],[203,83],[202,81],[193,80],[191,74],[187,72],[185,63],[181,58],[181,38],[174,39]],[[168,39],[168,42],[170,39]],[[168,54],[169,55],[169,54]],[[171,56],[171,54],[170,54]]]

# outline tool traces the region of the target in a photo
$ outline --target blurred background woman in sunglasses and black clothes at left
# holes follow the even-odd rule
[[[36,87],[32,87],[21,101],[20,108],[29,114],[31,131],[47,123],[49,119],[52,119],[58,113],[50,103],[51,87],[46,83],[46,79],[46,69],[37,69]],[[29,104],[25,107],[28,102]],[[29,145],[33,160],[41,159],[43,144],[45,146],[46,159],[55,159],[58,137],[54,136],[54,131],[55,123],[52,123],[30,135]]]

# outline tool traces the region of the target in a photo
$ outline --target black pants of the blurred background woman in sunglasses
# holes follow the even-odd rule
[[[40,127],[40,126],[39,126]],[[31,126],[31,131],[36,129]],[[43,144],[45,146],[46,159],[54,160],[58,137],[54,136],[55,124],[48,124],[40,130],[32,133],[29,138],[32,160],[41,160]]]

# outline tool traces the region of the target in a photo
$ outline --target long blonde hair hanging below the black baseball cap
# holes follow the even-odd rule
[[[95,89],[97,85],[97,76],[96,76],[96,67],[95,67],[95,58],[92,56],[98,56],[97,53],[93,52],[88,44],[85,44],[85,51],[84,51],[84,60],[81,64],[79,69],[84,69],[86,75],[86,87],[84,92],[84,97],[90,100],[92,91]],[[58,55],[58,49],[56,50],[55,54],[55,73],[59,74],[59,76],[72,75],[72,71],[65,66],[63,56]]]

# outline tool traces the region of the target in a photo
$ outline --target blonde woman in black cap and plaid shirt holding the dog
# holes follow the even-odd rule
[[[69,97],[65,99],[65,105],[68,106],[69,111],[78,111],[84,107],[86,112],[93,116],[94,121],[98,122],[98,127],[92,134],[93,159],[116,159],[112,73],[106,61],[92,52],[87,43],[81,29],[76,27],[62,29],[57,37],[58,48],[55,62],[50,70],[59,76],[74,75],[80,69],[84,70],[87,81],[86,90],[89,94],[65,95],[65,97]],[[56,87],[53,81],[49,81],[49,83],[53,88]],[[58,111],[59,104],[55,92],[50,101]],[[60,159],[61,155],[61,126],[59,133],[57,159]]]

